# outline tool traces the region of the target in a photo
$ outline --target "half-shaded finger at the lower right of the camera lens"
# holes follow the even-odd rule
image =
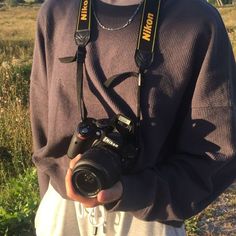
[[[121,182],[117,182],[113,187],[102,190],[98,193],[97,199],[101,204],[111,203],[119,200],[123,193]]]

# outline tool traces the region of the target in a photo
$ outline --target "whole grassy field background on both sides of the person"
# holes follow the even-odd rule
[[[29,76],[39,6],[0,8],[0,235],[34,235]],[[236,6],[219,9],[236,55]],[[186,222],[188,235],[236,235],[236,188]],[[219,233],[221,232],[221,234]]]

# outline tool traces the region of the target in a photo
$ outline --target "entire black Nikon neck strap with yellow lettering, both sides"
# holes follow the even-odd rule
[[[138,72],[125,72],[108,78],[104,83],[107,88],[117,85],[117,80],[126,79],[131,76],[138,78],[137,91],[137,126],[141,120],[141,86],[145,71],[151,66],[154,59],[154,48],[156,44],[157,23],[159,17],[161,0],[144,0],[142,17],[140,22],[137,46],[135,51],[135,62],[139,68]],[[78,108],[81,111],[81,120],[87,118],[87,110],[83,99],[83,65],[86,57],[86,45],[90,40],[92,0],[81,0],[78,10],[77,25],[74,34],[78,50],[74,57],[59,58],[63,63],[77,61],[77,97]]]

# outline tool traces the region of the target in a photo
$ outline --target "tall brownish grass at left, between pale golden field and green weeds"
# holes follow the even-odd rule
[[[28,96],[31,64],[0,67],[0,184],[32,165]]]

